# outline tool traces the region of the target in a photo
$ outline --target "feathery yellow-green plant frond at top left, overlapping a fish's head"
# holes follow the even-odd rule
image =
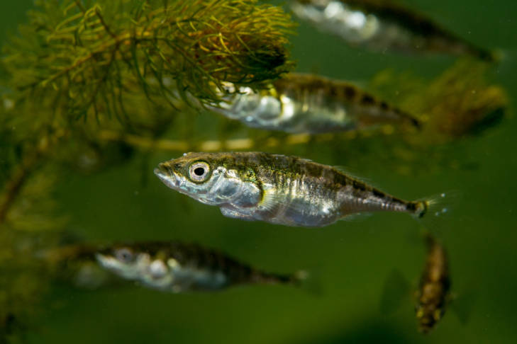
[[[289,15],[256,0],[37,4],[3,67],[17,100],[50,98],[73,117],[122,116],[128,80],[151,101],[204,103],[218,101],[221,81],[256,84],[292,67]]]

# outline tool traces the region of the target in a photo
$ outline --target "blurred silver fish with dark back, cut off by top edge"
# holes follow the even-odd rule
[[[352,45],[406,53],[494,54],[441,28],[430,18],[389,0],[293,0],[296,16]]]

